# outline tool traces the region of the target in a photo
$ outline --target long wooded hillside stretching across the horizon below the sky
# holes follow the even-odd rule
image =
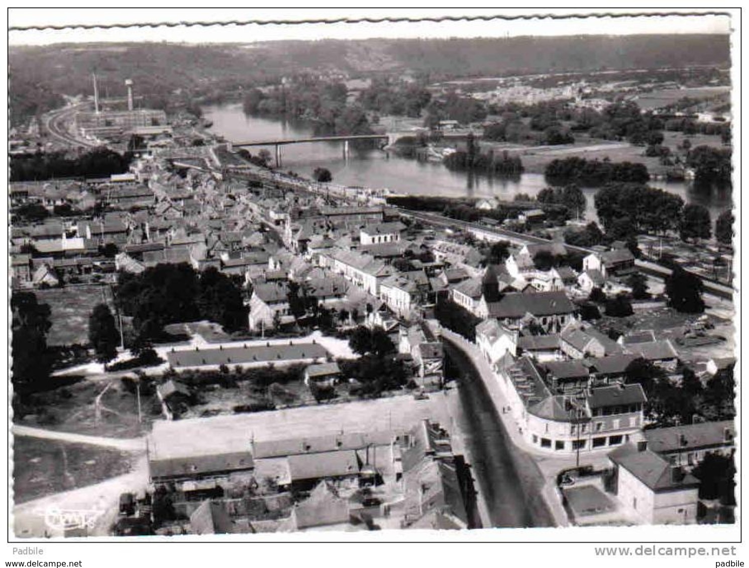
[[[132,79],[143,106],[169,109],[241,100],[300,70],[312,75],[413,76],[434,80],[561,71],[730,65],[727,34],[276,41],[251,44],[59,43],[11,46],[13,125],[61,106],[61,95],[124,94]],[[383,103],[383,106],[386,103]]]

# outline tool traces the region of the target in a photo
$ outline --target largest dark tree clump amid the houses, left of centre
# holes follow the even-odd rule
[[[136,335],[151,341],[169,323],[210,320],[229,331],[246,327],[242,294],[213,267],[198,274],[188,264],[158,264],[138,275],[118,275],[116,301],[133,317]]]

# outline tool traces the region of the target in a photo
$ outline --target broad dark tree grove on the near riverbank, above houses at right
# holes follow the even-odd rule
[[[629,234],[676,230],[684,207],[679,195],[639,183],[610,183],[595,194],[594,201],[607,234],[612,229]]]

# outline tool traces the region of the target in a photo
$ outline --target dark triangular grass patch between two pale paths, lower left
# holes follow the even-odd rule
[[[13,492],[16,504],[99,483],[130,471],[132,454],[87,444],[16,436]]]

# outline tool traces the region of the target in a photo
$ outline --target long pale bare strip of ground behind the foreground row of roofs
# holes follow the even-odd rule
[[[344,432],[404,430],[423,418],[438,421],[452,433],[447,395],[430,394],[364,400],[345,404],[303,406],[213,418],[156,421],[149,436],[149,451],[159,459],[195,454],[243,451],[250,441],[323,436]]]

